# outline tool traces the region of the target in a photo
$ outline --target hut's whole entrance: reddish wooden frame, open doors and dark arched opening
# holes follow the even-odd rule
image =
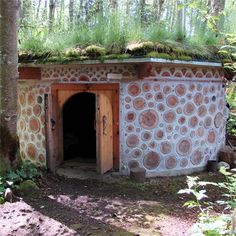
[[[93,162],[90,164],[100,174],[119,169],[118,84],[54,84],[46,113],[50,170],[56,171],[67,166],[65,160],[81,157],[84,162]],[[87,118],[83,121],[80,116]],[[87,123],[88,120],[90,122]],[[85,122],[89,128],[86,128]],[[79,127],[79,124],[83,126]],[[75,132],[80,129],[82,132]],[[88,129],[93,132],[87,132]],[[86,144],[79,143],[80,134],[86,136],[87,133],[90,134],[89,141]],[[69,146],[72,151],[68,150]],[[84,147],[86,152],[82,152]],[[76,166],[82,166],[77,163]],[[71,162],[68,164],[74,169]]]

